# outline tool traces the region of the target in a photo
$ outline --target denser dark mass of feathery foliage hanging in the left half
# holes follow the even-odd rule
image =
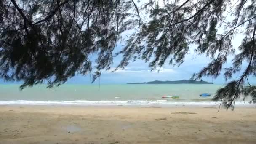
[[[48,81],[60,85],[75,72],[109,69],[133,2],[120,0],[2,0],[0,76],[24,81],[21,89]],[[130,22],[135,24],[136,21]]]

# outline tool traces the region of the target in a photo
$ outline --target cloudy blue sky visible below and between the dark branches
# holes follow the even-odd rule
[[[227,20],[231,20],[230,17],[227,17]],[[221,30],[219,31],[221,32]],[[241,43],[243,35],[236,35],[232,40],[232,44],[235,49]],[[123,44],[119,43],[115,48],[115,51],[120,51]],[[142,60],[137,60],[131,62],[125,69],[117,70],[111,72],[119,64],[122,59],[121,56],[117,56],[113,60],[112,69],[110,71],[102,71],[101,77],[98,78],[93,84],[124,84],[124,83],[134,83],[134,82],[148,82],[153,80],[183,80],[190,79],[193,73],[199,72],[200,69],[206,67],[207,64],[211,61],[208,57],[204,55],[197,55],[195,53],[196,45],[189,45],[189,52],[185,56],[184,63],[180,67],[173,67],[172,65],[165,64],[161,68],[157,68],[154,71],[151,71],[148,67],[148,63],[145,63]],[[92,59],[95,59],[96,56],[92,56]],[[232,56],[228,57],[227,63],[224,64],[224,67],[230,67],[232,64]],[[242,67],[246,67],[244,64]],[[222,72],[223,73],[223,72]],[[234,75],[232,78],[237,79],[239,74]],[[249,77],[250,82],[255,83],[256,78]],[[70,78],[67,81],[67,84],[91,84],[91,77],[89,75],[82,76],[76,75],[75,77]],[[216,84],[227,83],[224,79],[224,76],[221,74],[216,79],[212,77],[203,77],[203,80],[208,82],[213,82]],[[13,82],[4,82],[0,80],[0,83],[13,83]]]

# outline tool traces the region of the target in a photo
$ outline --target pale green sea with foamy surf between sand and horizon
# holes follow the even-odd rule
[[[223,85],[215,84],[119,84],[119,85],[60,85],[46,88],[36,85],[19,90],[19,85],[0,85],[0,104],[34,105],[173,105],[219,104],[212,101],[216,90]],[[211,93],[200,97],[201,93]],[[162,99],[163,95],[178,95],[179,99]],[[248,104],[249,100],[236,104]]]

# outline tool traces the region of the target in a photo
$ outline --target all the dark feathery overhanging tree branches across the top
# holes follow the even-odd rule
[[[137,59],[152,69],[179,66],[195,44],[196,52],[212,61],[192,78],[216,78],[224,69],[229,82],[213,99],[233,109],[241,97],[256,102],[256,87],[248,81],[256,76],[255,11],[255,0],[2,0],[0,77],[24,81],[21,89],[45,80],[48,87],[60,85],[92,69],[95,80],[118,54],[123,59],[117,69]],[[113,53],[125,31],[131,34],[123,38],[124,48]],[[235,53],[232,39],[238,33],[243,42]],[[93,53],[96,67],[88,59]],[[229,55],[233,64],[223,68]],[[230,81],[237,72],[240,78]]]

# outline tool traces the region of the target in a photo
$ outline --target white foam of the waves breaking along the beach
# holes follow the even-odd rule
[[[76,101],[26,101],[26,100],[16,100],[16,101],[0,101],[0,105],[6,104],[18,104],[18,105],[218,105],[219,102],[214,101],[200,101],[200,102],[184,102],[184,101],[145,101],[145,100],[130,100],[130,101],[86,101],[86,100],[76,100]],[[235,102],[236,105],[251,105],[248,102]]]

